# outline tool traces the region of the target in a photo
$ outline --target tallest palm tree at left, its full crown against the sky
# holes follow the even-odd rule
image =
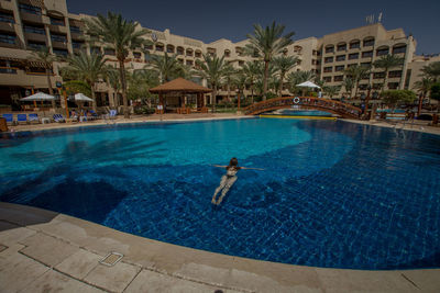
[[[131,49],[146,44],[143,35],[150,31],[142,29],[139,23],[122,19],[121,14],[109,12],[107,18],[98,14],[95,19],[86,20],[87,34],[96,41],[107,44],[116,52],[121,76],[124,117],[130,117],[127,98],[127,78],[124,63]]]

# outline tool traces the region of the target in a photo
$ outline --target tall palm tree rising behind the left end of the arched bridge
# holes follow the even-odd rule
[[[246,44],[248,54],[260,57],[264,61],[263,77],[263,100],[266,100],[268,64],[272,58],[280,53],[290,44],[294,43],[292,37],[294,32],[283,35],[285,25],[272,23],[271,26],[263,29],[260,24],[254,24],[254,34],[248,34],[250,44]]]

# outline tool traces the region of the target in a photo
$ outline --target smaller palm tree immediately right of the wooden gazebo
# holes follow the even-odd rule
[[[199,74],[201,77],[208,80],[212,88],[212,113],[216,111],[216,98],[217,87],[221,83],[224,77],[227,64],[224,63],[224,56],[221,58],[204,54],[204,61],[197,60],[197,66],[200,68]]]

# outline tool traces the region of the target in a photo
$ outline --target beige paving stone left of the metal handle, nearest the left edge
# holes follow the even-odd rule
[[[30,256],[50,267],[55,267],[79,250],[78,247],[72,246],[67,243],[41,233],[25,238],[21,241],[21,244],[28,246],[21,250],[22,253]]]

